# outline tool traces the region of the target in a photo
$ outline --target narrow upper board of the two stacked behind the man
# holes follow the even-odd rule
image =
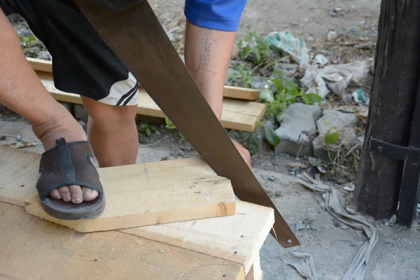
[[[35,71],[45,71],[48,73],[52,73],[52,62],[50,60],[36,59],[31,57],[27,57],[27,60],[29,64],[31,64],[32,69],[34,69]],[[139,88],[141,88],[140,85]],[[235,99],[256,100],[260,98],[260,90],[225,85],[223,96]]]

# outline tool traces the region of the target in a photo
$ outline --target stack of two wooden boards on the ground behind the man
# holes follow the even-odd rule
[[[77,94],[62,92],[54,87],[52,80],[52,63],[48,60],[27,58],[32,68],[38,74],[45,88],[60,102],[70,102],[82,104]],[[221,123],[223,127],[230,130],[242,130],[253,132],[262,116],[265,114],[265,104],[252,102],[260,97],[259,90],[243,87],[231,87],[226,85],[223,99],[223,111]],[[139,115],[165,118],[159,106],[153,99],[139,86]]]

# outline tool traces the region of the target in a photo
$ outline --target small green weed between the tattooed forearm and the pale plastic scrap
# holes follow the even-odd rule
[[[255,65],[269,62],[272,58],[272,51],[269,48],[268,41],[255,34],[251,27],[247,26],[246,28],[248,33],[244,40],[237,43],[239,58]]]

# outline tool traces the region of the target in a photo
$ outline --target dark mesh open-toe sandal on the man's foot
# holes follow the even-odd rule
[[[41,207],[50,216],[60,220],[80,220],[98,216],[104,210],[105,197],[99,174],[91,161],[92,146],[88,141],[67,143],[64,138],[57,139],[56,142],[57,147],[45,151],[39,164],[41,177],[36,183],[36,188]],[[50,190],[71,185],[96,190],[98,196],[90,202],[73,204],[55,200],[48,195]]]

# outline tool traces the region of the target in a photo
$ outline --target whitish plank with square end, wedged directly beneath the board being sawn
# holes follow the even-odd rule
[[[248,272],[273,224],[273,209],[237,201],[235,216],[121,231],[237,262]]]

